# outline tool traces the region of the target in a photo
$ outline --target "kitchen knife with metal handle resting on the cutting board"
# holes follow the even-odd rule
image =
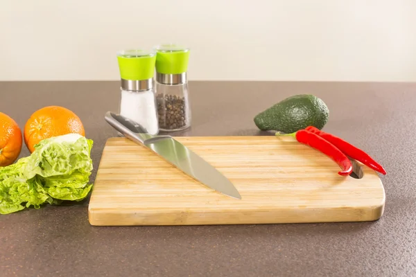
[[[153,150],[160,157],[205,186],[229,197],[241,199],[239,191],[229,179],[171,136],[148,134],[139,123],[120,114],[114,114],[112,111],[107,111],[105,120],[126,138]]]

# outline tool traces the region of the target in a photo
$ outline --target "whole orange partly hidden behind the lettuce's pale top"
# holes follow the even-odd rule
[[[73,111],[60,106],[43,107],[35,111],[26,122],[24,143],[32,153],[40,141],[71,133],[85,136],[83,123]]]

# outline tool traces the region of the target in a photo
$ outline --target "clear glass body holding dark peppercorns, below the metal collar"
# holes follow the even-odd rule
[[[163,84],[156,82],[157,116],[159,129],[180,131],[191,126],[191,107],[188,83]]]

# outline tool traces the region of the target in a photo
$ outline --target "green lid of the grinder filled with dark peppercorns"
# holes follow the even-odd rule
[[[189,48],[178,44],[156,46],[156,71],[163,74],[180,74],[188,71]]]

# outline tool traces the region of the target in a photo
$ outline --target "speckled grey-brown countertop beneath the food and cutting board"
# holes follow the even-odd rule
[[[0,276],[416,276],[416,84],[190,82],[193,122],[175,136],[270,135],[252,118],[297,93],[330,109],[325,130],[357,145],[388,174],[376,222],[238,226],[91,226],[89,199],[0,215]],[[94,140],[119,82],[0,82],[0,111],[24,127],[36,109],[67,107]],[[28,155],[26,146],[21,157]]]

